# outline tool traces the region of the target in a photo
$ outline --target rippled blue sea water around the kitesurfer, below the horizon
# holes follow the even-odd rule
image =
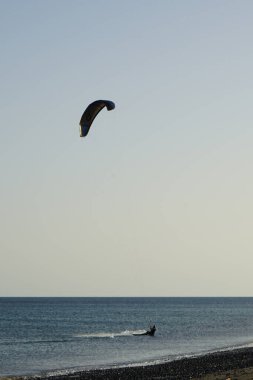
[[[132,334],[155,323],[155,337]],[[0,376],[253,345],[253,298],[0,298]]]

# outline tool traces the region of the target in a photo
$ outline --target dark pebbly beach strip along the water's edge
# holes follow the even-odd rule
[[[252,380],[253,347],[218,351],[202,356],[147,366],[77,371],[48,377],[4,376],[1,380]]]

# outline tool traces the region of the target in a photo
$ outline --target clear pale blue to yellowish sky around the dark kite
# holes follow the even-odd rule
[[[252,13],[0,0],[0,296],[252,296]]]

